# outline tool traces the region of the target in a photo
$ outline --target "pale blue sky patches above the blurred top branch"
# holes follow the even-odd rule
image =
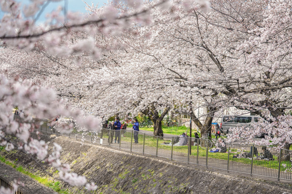
[[[16,1],[21,2],[22,4],[27,4],[31,2],[29,0],[16,0]],[[88,3],[88,5],[91,5],[91,1],[92,1],[94,5],[98,4],[99,7],[102,6],[104,2],[105,3],[107,2],[107,0],[84,0],[84,1]],[[42,23],[46,20],[45,19],[46,13],[51,12],[52,10],[56,9],[58,6],[64,7],[65,4],[67,4],[67,10],[86,13],[86,10],[85,10],[86,5],[82,0],[62,0],[59,2],[50,2],[48,6],[46,7],[46,9],[44,10],[44,12],[39,17],[37,23]],[[4,14],[0,10],[0,18],[2,18],[3,15]]]

